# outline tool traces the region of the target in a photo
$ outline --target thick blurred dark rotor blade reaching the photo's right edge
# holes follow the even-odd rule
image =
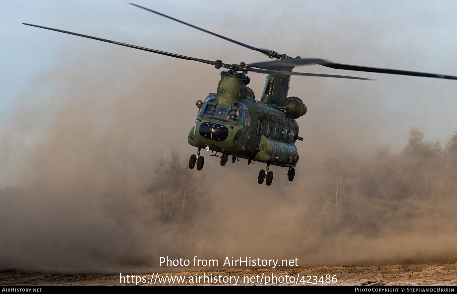
[[[251,66],[259,67],[262,69],[286,69],[299,65],[310,65],[310,64],[319,64],[332,69],[345,69],[345,70],[356,70],[356,71],[365,71],[381,74],[393,74],[393,75],[414,75],[414,76],[425,76],[429,78],[438,78],[438,79],[450,79],[457,80],[457,76],[452,75],[439,75],[439,74],[430,74],[417,71],[408,71],[408,70],[399,70],[399,69],[383,69],[376,67],[367,67],[367,66],[358,66],[350,64],[339,64],[334,63],[329,60],[319,59],[319,58],[304,58],[304,59],[282,59],[275,61],[265,61],[257,62],[250,64]]]

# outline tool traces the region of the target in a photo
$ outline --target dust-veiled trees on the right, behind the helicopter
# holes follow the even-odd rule
[[[377,230],[411,219],[454,218],[457,194],[457,131],[444,147],[424,142],[417,128],[409,131],[405,148],[391,154],[379,150],[371,158],[341,155],[326,162],[327,205],[333,203],[335,223],[354,223],[360,230]],[[451,216],[452,215],[452,216]],[[401,226],[401,225],[399,225]]]

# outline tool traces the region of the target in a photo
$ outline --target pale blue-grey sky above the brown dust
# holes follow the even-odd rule
[[[452,37],[457,31],[457,5],[452,1],[288,1],[279,6],[268,1],[142,1],[138,4],[240,42],[290,56],[457,75],[454,55],[457,40]],[[58,65],[65,67],[69,60],[75,61],[81,55],[96,58],[108,50],[116,50],[110,48],[115,46],[112,44],[28,27],[22,22],[197,58],[222,59],[226,63],[267,60],[261,53],[124,2],[2,1],[1,6],[0,113],[3,120],[14,107],[37,102],[35,99],[39,98],[25,93],[31,91],[32,84],[44,71]],[[180,82],[181,74],[189,68],[193,68],[190,75],[202,75],[202,78],[211,75],[217,83],[218,70],[209,66],[136,51],[139,50],[125,48],[122,52],[126,59],[170,62],[169,66],[173,66],[176,73],[175,83]],[[152,73],[162,70],[151,68]],[[341,124],[335,115],[329,115],[329,128],[338,124],[363,134],[377,134],[370,139],[372,143],[389,145],[395,151],[404,146],[404,138],[412,127],[422,130],[426,140],[440,139],[443,143],[457,129],[454,115],[457,83],[453,80],[348,72],[318,66],[294,70],[377,80],[294,76],[289,95],[301,97],[308,106],[306,118],[299,122],[307,132],[308,128],[313,131],[314,117],[322,118],[326,115],[322,112],[328,112],[314,105],[317,101],[333,105],[333,110],[341,109],[352,117],[352,122]],[[264,75],[250,76],[251,88],[260,93]],[[43,82],[53,83],[52,80],[41,81],[40,91],[46,91]],[[202,94],[207,92],[202,90]],[[347,101],[341,94],[356,99]]]

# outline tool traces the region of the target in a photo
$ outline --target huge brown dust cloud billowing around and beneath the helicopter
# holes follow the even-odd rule
[[[371,113],[339,115],[314,99],[298,120],[294,182],[273,166],[273,184],[259,185],[262,164],[221,167],[209,153],[202,171],[189,170],[194,102],[215,91],[218,70],[127,50],[61,56],[18,97],[0,137],[0,268],[120,272],[158,267],[162,256],[307,267],[456,261],[452,138],[431,144],[412,129],[404,149],[389,151]],[[262,83],[253,80],[258,96]],[[354,84],[335,83],[306,87],[353,108],[358,98],[345,91]],[[336,117],[357,128],[329,128]]]

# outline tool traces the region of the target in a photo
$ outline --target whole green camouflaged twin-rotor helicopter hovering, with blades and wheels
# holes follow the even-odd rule
[[[251,64],[245,64],[244,62],[240,62],[239,64],[225,64],[219,59],[211,61],[193,58],[50,27],[22,23],[27,26],[40,27],[179,59],[211,64],[214,65],[216,69],[228,69],[223,70],[220,74],[221,80],[219,81],[217,92],[210,93],[204,101],[198,100],[196,102],[198,115],[195,120],[195,125],[192,126],[187,137],[187,142],[192,146],[197,147],[197,153],[192,154],[189,159],[189,168],[192,169],[197,166],[197,170],[199,171],[202,170],[204,164],[204,158],[200,155],[200,151],[203,148],[207,151],[211,150],[213,152],[213,155],[211,156],[219,157],[221,166],[225,166],[229,156],[231,156],[232,162],[244,158],[248,160],[248,165],[250,165],[252,161],[266,163],[265,170],[262,169],[259,172],[259,184],[262,184],[266,180],[266,184],[268,186],[271,185],[273,172],[269,171],[270,165],[287,167],[288,179],[289,181],[293,181],[295,176],[294,167],[298,162],[298,152],[297,147],[295,147],[295,142],[297,140],[303,141],[303,138],[298,136],[298,124],[295,120],[303,116],[306,113],[307,108],[300,98],[293,96],[287,97],[291,75],[371,80],[346,75],[293,72],[292,69],[295,66],[317,64],[333,69],[457,80],[457,76],[451,75],[338,64],[318,58],[300,58],[299,56],[293,58],[287,56],[287,54],[280,54],[273,50],[252,47],[223,37],[137,4],[129,4],[167,17],[171,20],[178,21],[202,32],[207,32],[213,36],[245,48],[266,54],[271,59],[276,59]],[[247,86],[250,82],[250,78],[246,75],[248,72],[268,75],[260,101],[255,99],[254,92]]]

